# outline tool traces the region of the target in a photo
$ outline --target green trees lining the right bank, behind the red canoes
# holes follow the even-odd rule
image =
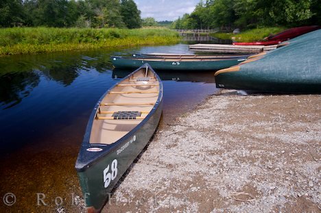
[[[191,14],[172,24],[174,29],[267,27],[321,24],[320,0],[206,0]]]

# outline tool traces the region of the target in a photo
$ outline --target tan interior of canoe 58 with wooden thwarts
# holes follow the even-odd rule
[[[123,79],[107,93],[97,108],[89,142],[110,145],[128,134],[150,113],[158,99],[159,90],[158,79],[146,68]],[[114,119],[113,112],[119,111],[142,113],[136,119]]]

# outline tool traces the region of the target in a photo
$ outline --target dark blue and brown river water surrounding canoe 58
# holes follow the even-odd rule
[[[0,197],[16,196],[14,205],[1,202],[1,209],[51,212],[60,197],[68,210],[78,210],[71,202],[81,195],[73,166],[88,116],[97,99],[131,72],[112,71],[109,56],[152,52],[189,53],[187,45],[174,45],[0,57]],[[216,90],[213,73],[158,75],[164,86],[160,128]],[[37,193],[47,206],[37,203]]]

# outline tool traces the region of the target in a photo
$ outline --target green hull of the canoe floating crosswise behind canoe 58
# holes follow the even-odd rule
[[[132,60],[128,58],[112,57],[112,64],[116,68],[138,68],[148,62],[156,70],[176,70],[176,71],[217,71],[222,68],[234,66],[243,62],[246,58],[232,58],[217,61],[151,61]]]

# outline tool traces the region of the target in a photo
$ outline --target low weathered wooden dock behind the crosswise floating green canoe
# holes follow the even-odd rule
[[[211,52],[211,53],[235,53],[235,54],[253,54],[262,51],[269,51],[276,49],[278,45],[216,45],[216,44],[196,44],[189,45],[189,50],[197,52]]]

